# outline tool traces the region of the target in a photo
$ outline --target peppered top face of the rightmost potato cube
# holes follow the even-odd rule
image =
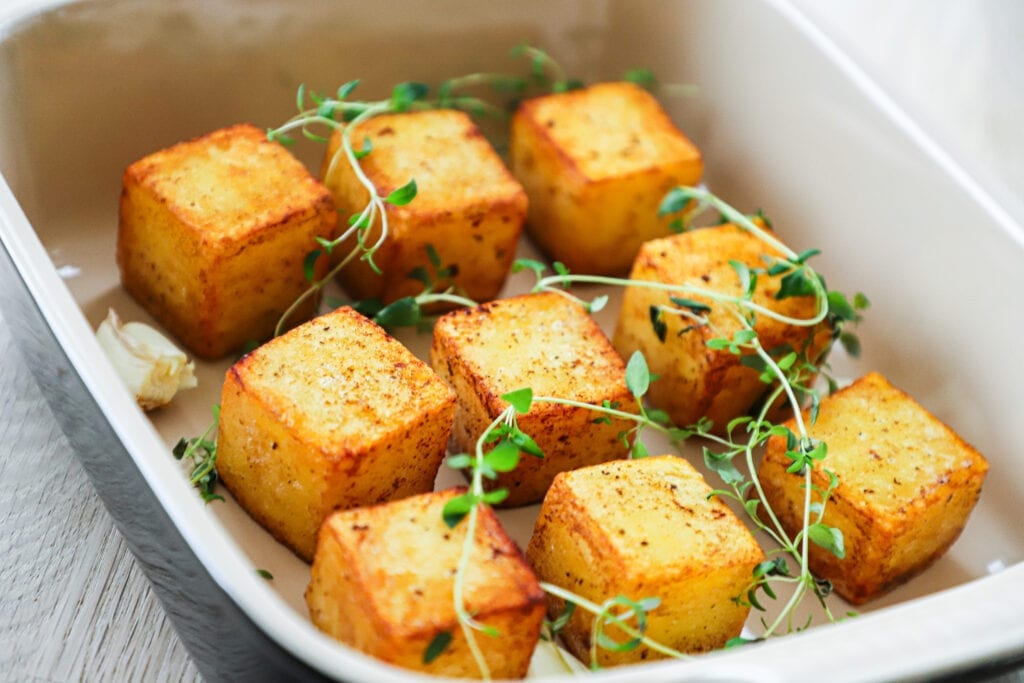
[[[879,518],[898,519],[908,501],[925,504],[939,486],[988,471],[981,454],[878,373],[822,401],[810,434],[828,444],[819,466],[839,474],[842,490],[897,513]],[[769,447],[779,457],[784,441]]]

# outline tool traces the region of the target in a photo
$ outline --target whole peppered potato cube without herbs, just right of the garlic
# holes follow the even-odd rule
[[[335,508],[433,488],[455,395],[350,308],[313,318],[232,366],[217,471],[238,502],[309,560]]]

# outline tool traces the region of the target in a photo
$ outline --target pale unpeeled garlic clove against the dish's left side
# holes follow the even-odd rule
[[[167,337],[144,323],[121,323],[110,309],[96,338],[139,407],[166,405],[182,389],[197,385],[195,365]]]

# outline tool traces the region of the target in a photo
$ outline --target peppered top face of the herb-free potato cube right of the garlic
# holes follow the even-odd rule
[[[455,402],[429,366],[348,307],[267,342],[228,372],[328,454],[404,429],[423,412]]]

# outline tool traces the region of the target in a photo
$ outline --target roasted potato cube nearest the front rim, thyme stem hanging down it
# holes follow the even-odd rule
[[[321,529],[306,590],[317,628],[368,654],[438,676],[479,678],[455,611],[454,583],[468,523],[449,528],[444,504],[457,489],[339,511]],[[494,511],[479,509],[465,579],[465,607],[496,629],[475,640],[490,675],[522,678],[540,637],[544,593]],[[430,661],[441,633],[452,640]]]

